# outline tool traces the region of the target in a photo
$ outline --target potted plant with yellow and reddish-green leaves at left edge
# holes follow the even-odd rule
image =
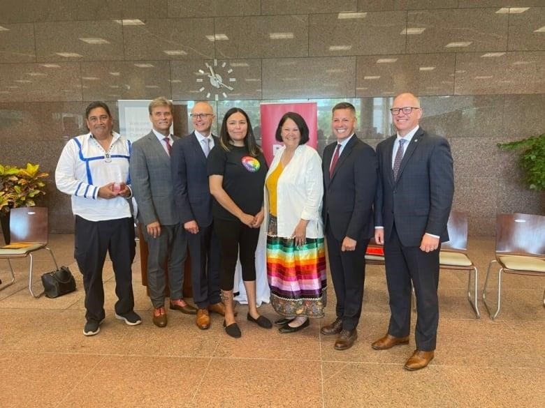
[[[4,241],[10,242],[9,211],[17,207],[36,205],[36,199],[45,195],[48,173],[40,172],[40,165],[27,167],[0,165],[0,222]]]

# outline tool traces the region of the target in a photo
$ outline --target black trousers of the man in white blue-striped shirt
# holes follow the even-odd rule
[[[136,253],[133,218],[89,221],[75,217],[74,257],[83,275],[85,287],[85,318],[100,322],[104,312],[102,269],[106,253],[112,259],[115,275],[115,303],[118,315],[134,308],[131,265]]]

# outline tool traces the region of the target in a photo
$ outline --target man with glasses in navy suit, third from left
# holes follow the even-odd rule
[[[196,324],[203,330],[210,327],[210,311],[225,315],[219,297],[219,247],[212,228],[212,195],[206,169],[208,153],[219,143],[211,131],[214,117],[210,103],[196,103],[191,110],[195,130],[173,144],[171,155],[174,199],[191,257]]]

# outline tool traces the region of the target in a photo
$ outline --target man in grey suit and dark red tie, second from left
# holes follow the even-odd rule
[[[182,299],[187,239],[176,213],[170,174],[170,150],[173,140],[178,139],[170,135],[173,105],[160,97],[152,100],[148,109],[152,131],[133,143],[129,171],[138,220],[149,250],[147,284],[154,308],[153,322],[164,327],[167,267],[170,309],[194,315],[196,308]]]

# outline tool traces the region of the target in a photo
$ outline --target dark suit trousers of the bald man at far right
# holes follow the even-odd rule
[[[440,248],[440,245],[439,245]],[[416,348],[435,350],[439,324],[439,248],[424,252],[418,246],[403,246],[393,226],[390,239],[384,243],[386,283],[390,295],[388,333],[405,337],[411,331],[411,281],[416,294]]]

